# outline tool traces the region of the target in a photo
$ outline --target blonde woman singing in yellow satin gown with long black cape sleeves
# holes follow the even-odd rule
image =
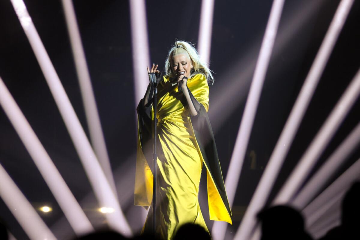
[[[157,74],[158,65],[148,68]],[[172,239],[184,223],[206,230],[198,201],[202,164],[207,169],[210,219],[231,222],[231,211],[208,110],[210,69],[194,46],[177,41],[165,62],[165,76],[158,77],[157,94],[157,235]],[[149,85],[138,106],[138,152],[135,177],[135,205],[148,207],[152,201],[152,108],[153,89]],[[143,227],[151,232],[152,209]]]

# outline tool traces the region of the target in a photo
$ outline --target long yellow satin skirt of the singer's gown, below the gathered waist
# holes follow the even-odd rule
[[[157,234],[172,239],[177,229],[189,222],[207,230],[198,201],[202,159],[189,123],[180,116],[160,122],[157,131]],[[152,211],[145,232],[152,230]]]

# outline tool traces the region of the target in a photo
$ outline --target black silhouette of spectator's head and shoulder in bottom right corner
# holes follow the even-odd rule
[[[319,240],[360,239],[360,182],[355,182],[342,200],[341,225]]]

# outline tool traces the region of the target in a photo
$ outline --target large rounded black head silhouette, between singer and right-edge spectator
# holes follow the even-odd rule
[[[257,214],[261,222],[261,240],[311,239],[304,231],[304,219],[294,208],[275,206]]]

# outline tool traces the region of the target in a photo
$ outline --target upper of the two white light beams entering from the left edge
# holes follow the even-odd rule
[[[93,226],[72,195],[66,182],[50,159],[48,153],[32,130],[30,124],[6,88],[0,77],[0,105],[25,145],[41,176],[60,205],[67,220],[77,235],[93,231]]]

